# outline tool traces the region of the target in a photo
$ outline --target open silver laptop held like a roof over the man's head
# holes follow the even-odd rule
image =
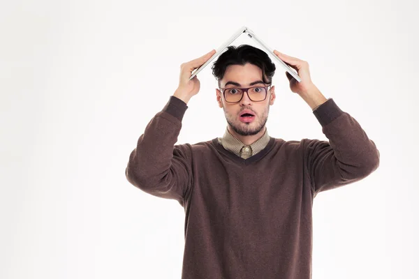
[[[242,33],[247,33],[247,36],[249,36],[253,40],[256,40],[256,42],[259,43],[259,45],[261,45],[268,54],[272,54],[272,56],[274,57],[274,59],[277,59],[277,61],[279,61],[279,63],[281,63],[281,65],[285,68],[285,70],[288,73],[290,73],[290,75],[292,75],[295,78],[295,80],[297,80],[298,82],[301,82],[301,78],[297,75],[297,71],[294,68],[291,68],[290,66],[288,66],[287,63],[285,63],[284,61],[282,61],[281,59],[279,59],[279,57],[277,56],[277,54],[274,54],[274,52],[270,49],[270,47],[268,47],[263,42],[263,40],[260,40],[260,38],[258,38],[255,35],[255,33],[253,33],[253,31],[251,31],[249,28],[247,28],[245,26],[240,27],[240,29],[237,30],[237,32],[235,32],[233,36],[231,36],[228,40],[226,40],[226,43],[223,43],[223,45],[221,45],[221,47],[219,47],[219,49],[216,50],[216,52],[211,56],[210,59],[207,60],[207,62],[205,62],[199,68],[193,70],[191,77],[189,77],[189,80],[192,80],[193,77],[195,77],[201,70],[203,70],[203,68],[205,68],[205,66],[207,66],[216,56],[219,56],[219,54],[221,54],[221,52],[223,52],[223,50],[225,50],[226,47],[228,47],[228,45],[230,45],[231,43],[233,43],[233,41],[235,39],[237,39],[240,35],[242,35]]]

